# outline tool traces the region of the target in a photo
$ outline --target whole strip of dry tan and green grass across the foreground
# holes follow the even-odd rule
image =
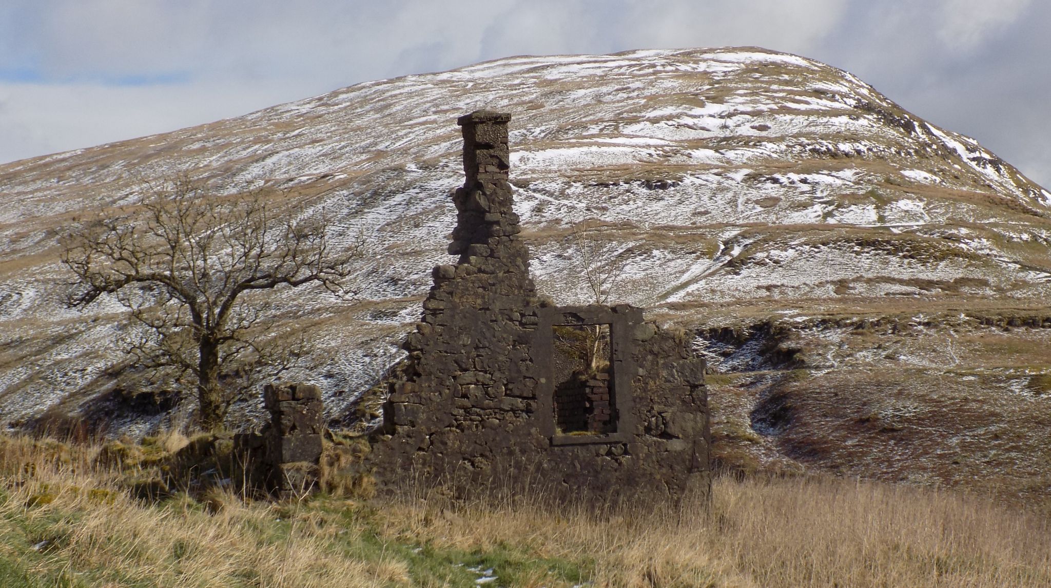
[[[99,450],[0,438],[0,585],[1051,586],[1046,519],[907,486],[727,478],[708,510],[602,516],[534,499],[147,503]]]

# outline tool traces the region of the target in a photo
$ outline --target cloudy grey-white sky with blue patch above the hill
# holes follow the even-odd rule
[[[0,162],[512,55],[759,45],[1051,187],[1047,0],[0,0]]]

